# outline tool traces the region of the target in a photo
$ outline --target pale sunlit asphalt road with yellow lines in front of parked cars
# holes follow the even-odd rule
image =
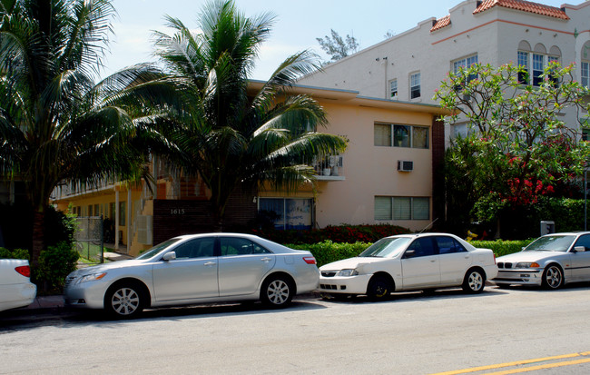
[[[584,284],[379,303],[307,298],[280,311],[209,305],[135,321],[78,312],[7,319],[0,373],[590,373],[589,297]]]

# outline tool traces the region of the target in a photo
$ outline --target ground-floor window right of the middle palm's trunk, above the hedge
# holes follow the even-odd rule
[[[259,217],[276,229],[311,229],[311,199],[260,198],[258,202]]]

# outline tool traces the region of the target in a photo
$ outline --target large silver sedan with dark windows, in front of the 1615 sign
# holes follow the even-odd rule
[[[237,233],[175,237],[134,260],[70,273],[65,300],[74,307],[133,317],[144,308],[213,301],[262,301],[273,308],[317,288],[310,252]]]

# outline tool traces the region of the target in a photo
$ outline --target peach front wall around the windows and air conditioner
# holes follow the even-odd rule
[[[374,219],[374,197],[432,196],[431,149],[379,147],[374,145],[374,123],[398,123],[431,127],[431,113],[410,113],[365,106],[322,103],[329,113],[327,133],[345,135],[344,181],[319,183],[317,222],[326,225],[384,223]],[[428,137],[430,138],[430,134]],[[411,173],[398,172],[398,160],[414,162]],[[431,210],[432,210],[432,203]],[[430,214],[431,216],[431,214]],[[393,223],[412,230],[429,221]]]

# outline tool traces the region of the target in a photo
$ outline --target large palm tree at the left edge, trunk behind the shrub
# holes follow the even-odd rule
[[[110,0],[0,3],[0,174],[33,205],[31,263],[44,248],[44,209],[58,183],[143,175],[147,124],[166,89],[149,64],[95,84],[114,15]],[[154,99],[154,101],[152,101]]]

